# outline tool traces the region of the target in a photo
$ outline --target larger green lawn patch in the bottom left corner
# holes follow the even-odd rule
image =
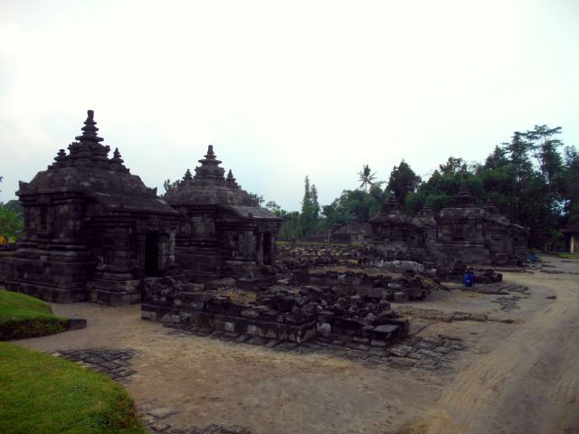
[[[139,433],[122,386],[59,357],[0,342],[0,432]]]

